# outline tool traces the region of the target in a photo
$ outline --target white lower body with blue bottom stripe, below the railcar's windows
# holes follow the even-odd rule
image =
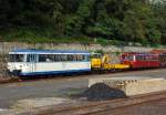
[[[10,71],[20,70],[21,75],[55,74],[64,72],[91,71],[91,62],[37,62],[8,63]]]

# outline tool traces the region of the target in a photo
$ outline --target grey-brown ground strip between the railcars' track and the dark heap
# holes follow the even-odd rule
[[[115,74],[82,75],[64,79],[45,79],[30,82],[0,84],[0,108],[9,108],[20,100],[40,97],[70,98],[72,94],[83,92],[90,77],[151,76],[165,77],[166,69]]]

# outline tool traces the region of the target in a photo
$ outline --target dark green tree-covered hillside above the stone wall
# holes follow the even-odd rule
[[[1,41],[97,39],[166,44],[166,1],[0,0]]]

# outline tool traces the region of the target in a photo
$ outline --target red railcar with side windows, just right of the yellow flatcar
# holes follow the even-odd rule
[[[128,64],[132,69],[159,67],[158,59],[156,53],[124,53],[121,63]]]

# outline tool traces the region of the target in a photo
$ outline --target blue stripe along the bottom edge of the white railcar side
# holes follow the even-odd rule
[[[23,72],[19,75],[49,75],[49,74],[63,74],[63,73],[81,73],[81,72],[90,72],[91,69],[84,69],[84,70],[66,70],[66,71],[44,71],[44,72]]]

